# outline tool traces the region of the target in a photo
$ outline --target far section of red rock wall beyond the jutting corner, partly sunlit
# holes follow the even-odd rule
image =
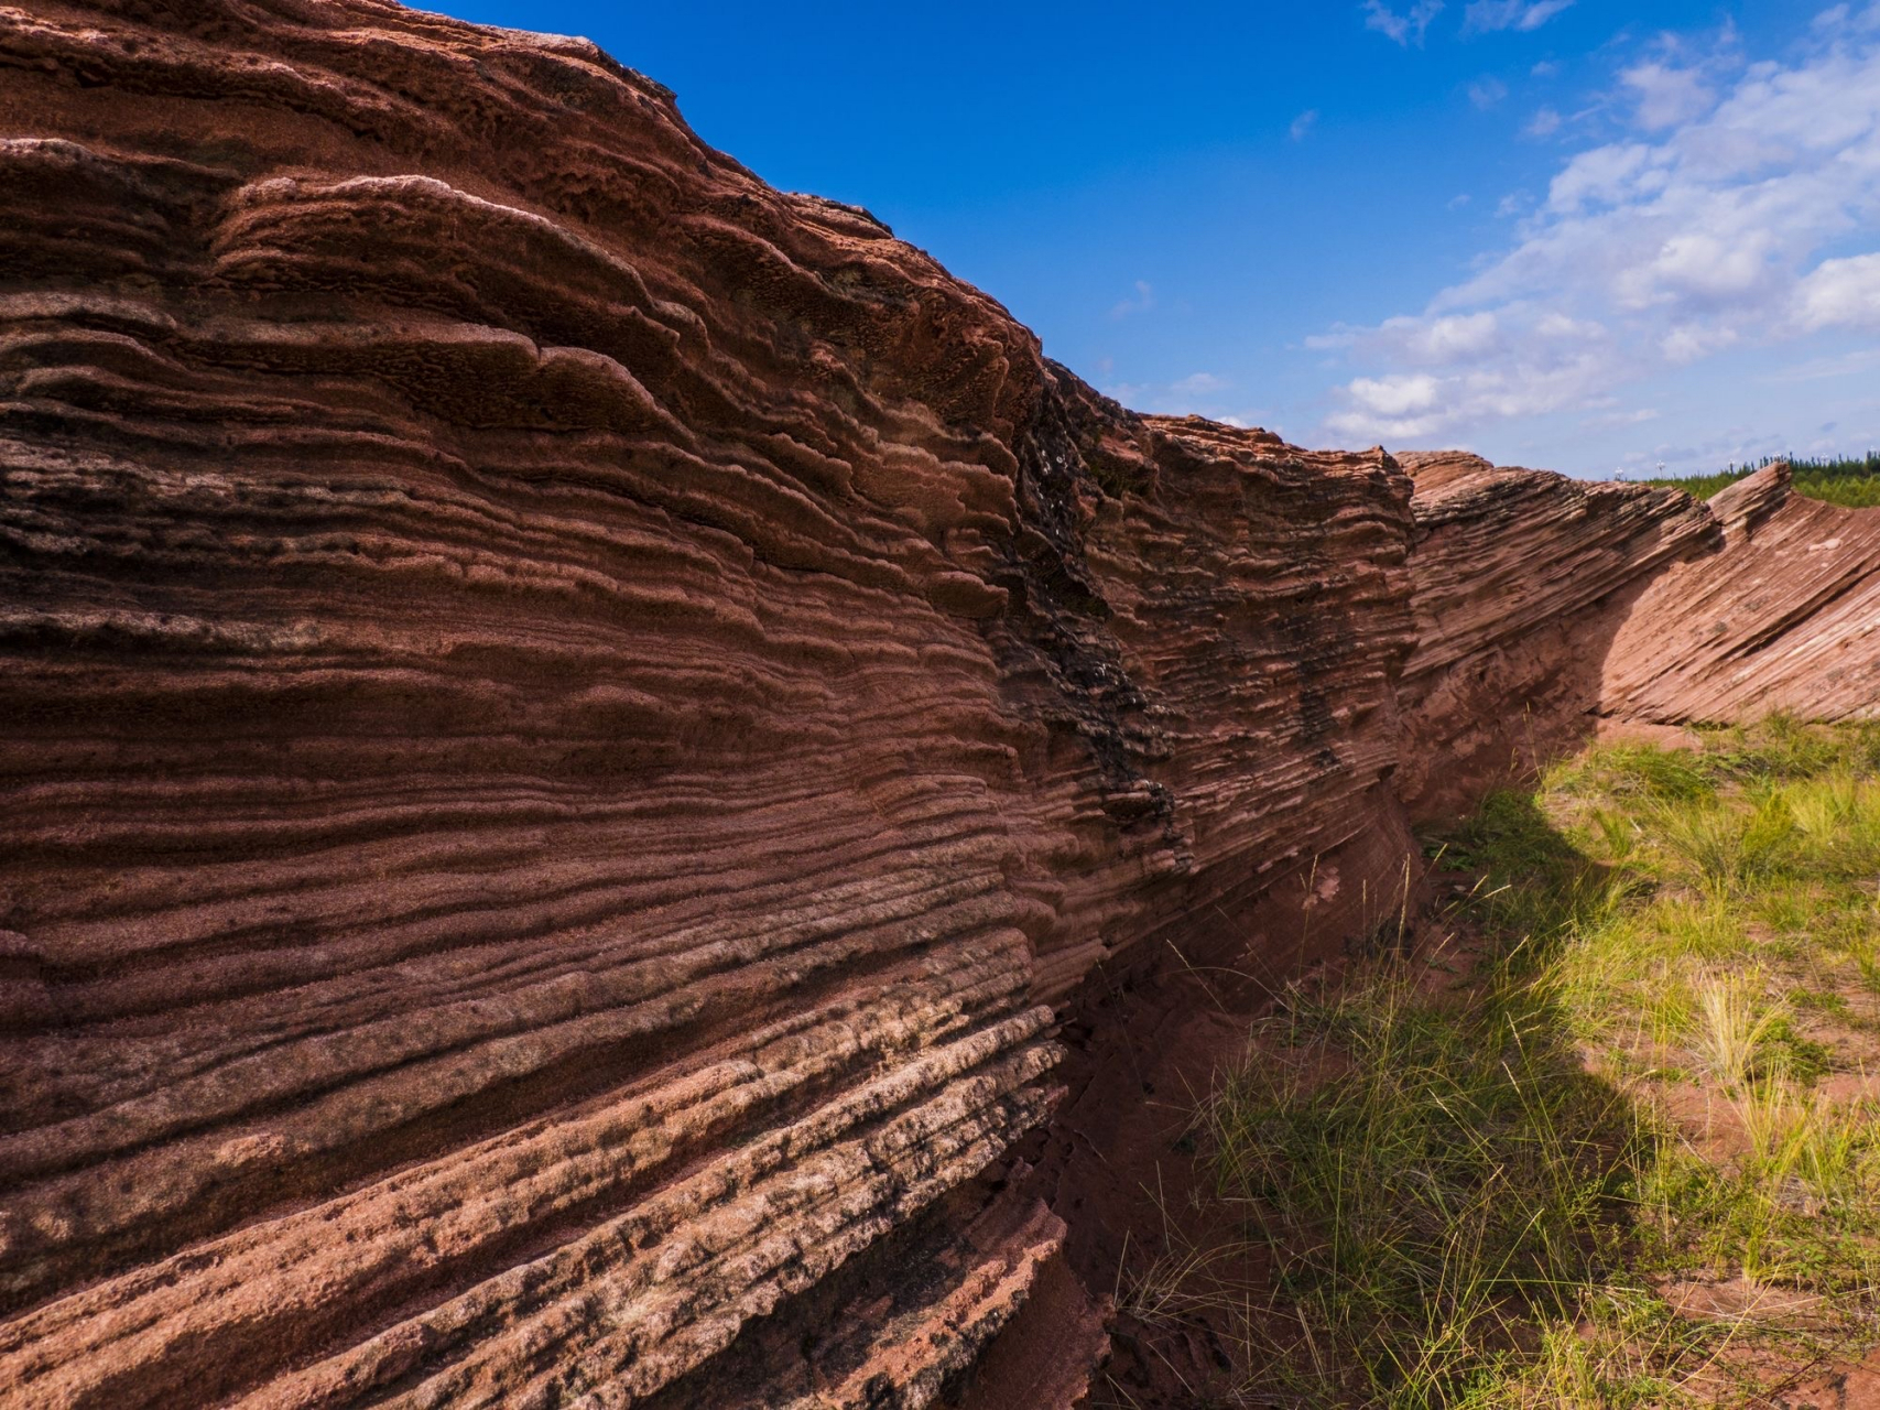
[[[1406,453],[1418,647],[1399,793],[1453,812],[1615,726],[1880,714],[1880,511]]]

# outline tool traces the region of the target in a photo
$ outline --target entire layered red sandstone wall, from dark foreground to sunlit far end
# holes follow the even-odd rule
[[[1872,513],[1130,414],[585,41],[0,8],[0,216],[9,1406],[1070,1402],[1119,993],[1874,709]]]

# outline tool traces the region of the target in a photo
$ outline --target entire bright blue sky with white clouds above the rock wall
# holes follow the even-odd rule
[[[1880,447],[1880,0],[444,0],[585,34],[1122,402],[1609,476]]]

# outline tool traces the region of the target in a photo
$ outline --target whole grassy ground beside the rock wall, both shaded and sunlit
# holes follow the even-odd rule
[[[1762,1404],[1880,1342],[1876,775],[1778,718],[1433,840],[1457,946],[1295,987],[1201,1117],[1271,1267],[1239,1402]]]

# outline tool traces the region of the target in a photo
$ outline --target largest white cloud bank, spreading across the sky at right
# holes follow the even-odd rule
[[[1555,412],[1622,417],[1636,384],[1724,350],[1880,331],[1867,13],[1880,4],[1816,26],[1784,62],[1731,56],[1730,34],[1707,58],[1654,41],[1658,58],[1622,70],[1649,139],[1574,154],[1538,209],[1506,197],[1512,246],[1423,312],[1318,344],[1350,367],[1325,431],[1433,444]]]

